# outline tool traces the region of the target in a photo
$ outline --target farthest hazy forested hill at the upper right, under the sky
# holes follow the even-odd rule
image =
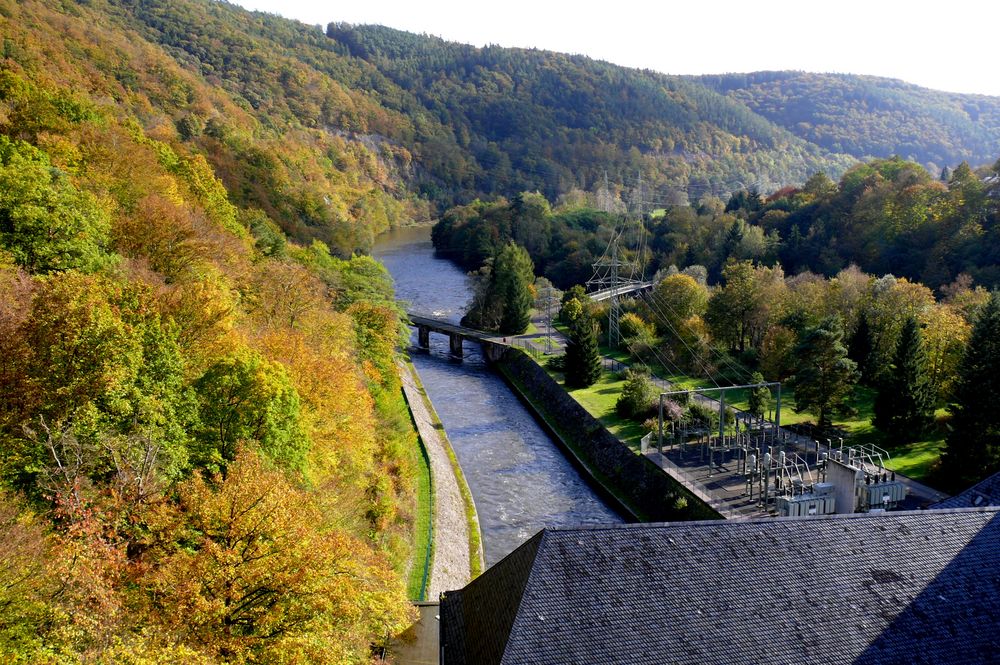
[[[997,97],[850,74],[755,72],[694,80],[800,138],[859,159],[899,155],[937,175],[962,161],[992,163],[1000,154]]]

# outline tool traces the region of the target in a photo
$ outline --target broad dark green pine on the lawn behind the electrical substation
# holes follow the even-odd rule
[[[806,330],[795,347],[795,410],[814,414],[820,428],[831,425],[833,413],[846,410],[844,400],[858,379],[857,363],[847,357],[843,337],[840,322],[829,317]]]

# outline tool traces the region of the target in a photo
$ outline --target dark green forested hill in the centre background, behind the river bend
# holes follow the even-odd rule
[[[741,103],[676,76],[584,56],[475,48],[380,26],[327,34],[412,94],[472,158],[473,192],[555,199],[642,173],[678,202],[763,189],[853,160],[795,138]],[[671,191],[673,190],[673,191]]]

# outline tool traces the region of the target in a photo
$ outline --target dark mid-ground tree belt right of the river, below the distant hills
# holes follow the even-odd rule
[[[622,199],[631,193],[615,196],[624,211]],[[528,250],[539,275],[569,288],[590,278],[620,224],[622,213],[597,210],[598,198],[553,208],[540,194],[522,193],[456,206],[435,225],[434,244],[476,270],[513,240]],[[625,243],[647,277],[672,265],[698,265],[717,282],[727,262],[751,260],[780,263],[789,274],[833,276],[856,265],[935,289],[960,277],[996,288],[1000,161],[976,171],[963,162],[941,181],[919,164],[880,159],[852,167],[839,182],[817,173],[768,197],[746,190],[726,201],[702,197],[635,219]]]

